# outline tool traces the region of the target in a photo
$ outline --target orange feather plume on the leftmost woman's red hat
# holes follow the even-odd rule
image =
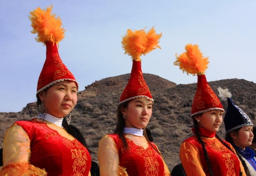
[[[65,29],[61,28],[60,17],[55,18],[56,14],[52,14],[52,5],[47,9],[34,9],[30,12],[31,16],[28,16],[31,20],[31,26],[33,34],[37,33],[37,42],[52,41],[53,45],[59,44],[65,36]]]

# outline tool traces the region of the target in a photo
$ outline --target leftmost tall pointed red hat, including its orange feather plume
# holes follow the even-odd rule
[[[42,42],[46,46],[46,59],[37,82],[36,95],[44,89],[52,86],[56,82],[68,80],[78,83],[74,75],[68,70],[60,59],[58,52],[59,42],[64,38],[65,29],[61,28],[61,19],[55,18],[52,14],[52,5],[46,9],[34,9],[30,12],[32,33],[37,33],[37,42]]]

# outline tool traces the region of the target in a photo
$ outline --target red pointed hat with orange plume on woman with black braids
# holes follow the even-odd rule
[[[197,75],[196,95],[193,100],[191,116],[204,113],[209,110],[219,109],[224,112],[218,96],[213,92],[205,77],[205,70],[208,68],[208,57],[205,58],[200,52],[198,45],[188,44],[186,52],[177,57],[174,65],[187,74]]]

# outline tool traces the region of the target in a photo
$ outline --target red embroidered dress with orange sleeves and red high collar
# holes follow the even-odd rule
[[[215,132],[199,128],[199,134],[205,142],[214,176],[239,176],[243,165],[239,158],[215,137]],[[194,128],[192,129],[194,132]],[[226,142],[226,141],[225,141]],[[227,143],[227,142],[226,142]],[[231,144],[227,143],[235,152]],[[180,146],[180,160],[187,176],[210,176],[202,145],[196,136],[185,139]]]

